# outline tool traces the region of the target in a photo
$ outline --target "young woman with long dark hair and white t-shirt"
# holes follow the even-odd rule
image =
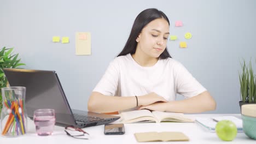
[[[136,17],[123,51],[92,92],[89,111],[196,113],[216,109],[210,93],[168,53],[169,26],[167,16],[157,9],[143,10]],[[176,101],[176,93],[187,99]]]

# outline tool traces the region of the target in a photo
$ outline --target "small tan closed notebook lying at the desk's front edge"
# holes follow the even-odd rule
[[[135,133],[136,140],[138,142],[150,142],[150,141],[189,141],[188,136],[181,132],[147,132],[147,133]]]

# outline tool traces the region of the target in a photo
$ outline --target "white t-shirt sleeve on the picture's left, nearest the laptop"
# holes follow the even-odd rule
[[[93,92],[99,92],[104,95],[117,95],[119,80],[119,67],[117,61],[112,61],[108,65],[105,74],[102,76],[100,82],[97,83]]]

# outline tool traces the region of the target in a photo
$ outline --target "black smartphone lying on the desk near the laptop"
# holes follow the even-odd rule
[[[105,124],[104,134],[105,135],[123,135],[125,133],[124,124]]]

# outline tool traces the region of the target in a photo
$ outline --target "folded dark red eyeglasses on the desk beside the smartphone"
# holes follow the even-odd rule
[[[65,132],[68,136],[74,137],[75,139],[89,139],[89,134],[80,128],[69,126],[65,128]]]

